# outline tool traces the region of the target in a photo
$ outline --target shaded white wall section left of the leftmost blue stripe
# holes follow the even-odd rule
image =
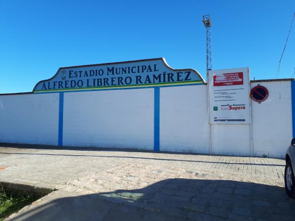
[[[59,94],[0,96],[0,142],[58,145]]]

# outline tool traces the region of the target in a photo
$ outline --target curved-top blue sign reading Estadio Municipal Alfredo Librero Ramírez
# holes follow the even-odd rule
[[[193,69],[172,69],[164,58],[59,68],[34,93],[203,84]]]

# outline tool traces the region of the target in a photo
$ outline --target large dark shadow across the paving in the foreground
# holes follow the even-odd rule
[[[11,220],[294,221],[295,200],[278,186],[177,178],[109,193],[55,191]]]

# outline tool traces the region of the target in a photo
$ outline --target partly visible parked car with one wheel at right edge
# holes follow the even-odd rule
[[[287,194],[295,198],[295,138],[292,139],[291,145],[286,153],[286,166],[285,166],[285,189]]]

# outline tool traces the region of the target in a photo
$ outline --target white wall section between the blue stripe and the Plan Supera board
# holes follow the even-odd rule
[[[160,88],[160,150],[209,153],[207,85]]]

